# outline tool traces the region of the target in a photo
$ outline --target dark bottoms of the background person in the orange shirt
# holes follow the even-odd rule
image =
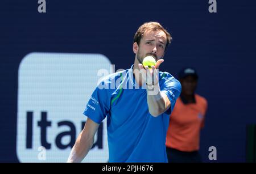
[[[201,163],[199,151],[184,152],[175,148],[166,147],[169,163]]]

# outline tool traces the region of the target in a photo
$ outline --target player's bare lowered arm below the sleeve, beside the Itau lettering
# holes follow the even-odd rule
[[[85,158],[90,148],[92,148],[94,135],[98,130],[98,126],[100,125],[88,117],[84,129],[82,129],[71,153],[69,154],[68,163],[80,163],[82,159]]]

